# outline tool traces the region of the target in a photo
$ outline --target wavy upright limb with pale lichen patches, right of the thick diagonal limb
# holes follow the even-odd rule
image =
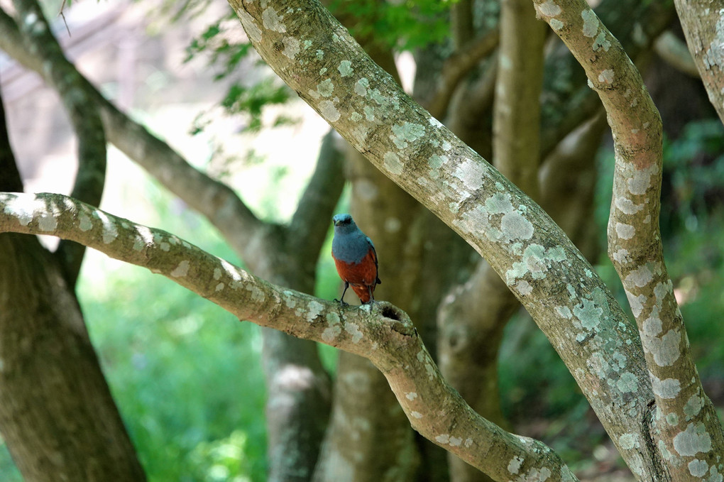
[[[661,452],[668,454],[664,463],[673,480],[699,477],[710,468],[712,476],[720,474],[724,435],[691,359],[663,258],[658,222],[659,112],[626,51],[584,1],[534,2],[586,70],[613,131],[615,174],[608,249],[636,317],[652,379],[659,413],[652,436]],[[636,465],[630,466],[636,473]]]

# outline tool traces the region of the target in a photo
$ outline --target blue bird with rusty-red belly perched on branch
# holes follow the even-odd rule
[[[373,303],[374,288],[382,282],[378,276],[377,252],[372,240],[360,231],[349,214],[336,214],[332,224],[332,258],[337,274],[345,282],[340,305],[345,304],[345,293],[349,287],[363,304]]]

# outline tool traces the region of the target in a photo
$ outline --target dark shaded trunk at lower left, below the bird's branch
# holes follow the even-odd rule
[[[56,260],[0,234],[0,432],[28,482],[145,481]]]

